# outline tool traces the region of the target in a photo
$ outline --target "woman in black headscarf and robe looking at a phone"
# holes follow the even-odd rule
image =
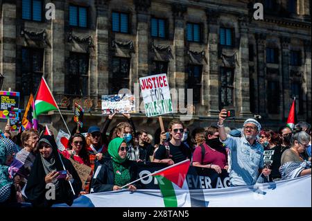
[[[40,138],[37,152],[26,184],[26,197],[33,206],[49,207],[59,203],[71,206],[73,199],[78,196],[82,188],[80,177],[71,161],[61,157],[53,137],[49,135]],[[66,177],[62,177],[64,172],[61,173],[64,168],[66,168]]]

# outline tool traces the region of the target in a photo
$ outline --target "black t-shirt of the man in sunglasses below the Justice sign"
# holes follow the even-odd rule
[[[170,142],[168,142],[168,144],[170,148],[169,158],[172,159],[173,162],[179,163],[185,159],[191,160],[191,150],[183,143],[181,143],[179,146],[173,145]],[[159,148],[155,152],[155,159],[167,159],[166,147],[164,145],[159,145]]]

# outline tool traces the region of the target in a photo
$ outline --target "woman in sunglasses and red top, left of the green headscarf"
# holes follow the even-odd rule
[[[62,151],[62,155],[66,159],[73,159],[74,161],[85,164],[91,167],[90,159],[89,159],[89,152],[87,150],[87,142],[85,140],[85,136],[80,133],[76,133],[71,135],[69,138],[69,142],[67,144],[67,149]],[[80,194],[89,193],[89,183],[92,178],[92,171],[87,179],[85,187],[83,191],[80,191]]]

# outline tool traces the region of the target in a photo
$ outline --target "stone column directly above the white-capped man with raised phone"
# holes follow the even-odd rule
[[[238,103],[236,111],[239,116],[247,118],[251,116],[250,112],[250,81],[249,81],[249,48],[248,48],[248,17],[239,18],[239,33],[241,39],[239,41],[239,72],[235,79],[238,79]]]

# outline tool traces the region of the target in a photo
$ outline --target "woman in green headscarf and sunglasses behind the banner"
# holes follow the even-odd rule
[[[108,145],[110,159],[101,166],[98,174],[94,175],[94,193],[117,191],[121,186],[137,179],[137,166],[127,158],[127,143],[116,137]],[[128,191],[136,191],[137,184],[127,186]]]

